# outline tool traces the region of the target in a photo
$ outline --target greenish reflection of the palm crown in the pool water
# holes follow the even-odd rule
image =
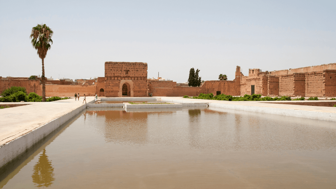
[[[33,170],[33,182],[36,187],[48,187],[51,186],[54,178],[54,168],[51,166],[51,161],[49,161],[48,156],[45,154],[45,149],[39,157],[39,161],[34,166]]]

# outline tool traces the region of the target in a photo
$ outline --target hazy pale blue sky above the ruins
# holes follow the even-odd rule
[[[146,62],[148,77],[235,77],[336,62],[336,1],[0,0],[0,76],[41,75],[29,36],[49,26],[46,77],[104,77],[104,62]]]

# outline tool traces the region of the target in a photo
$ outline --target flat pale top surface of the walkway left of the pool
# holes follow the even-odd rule
[[[86,97],[86,102],[93,99]],[[30,105],[0,109],[0,146],[77,109],[85,104],[82,102],[82,98],[79,101],[71,98],[53,102],[12,102]]]

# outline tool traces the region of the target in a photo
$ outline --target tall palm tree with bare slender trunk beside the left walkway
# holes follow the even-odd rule
[[[30,39],[32,39],[32,45],[37,50],[37,54],[42,59],[42,101],[45,102],[45,77],[44,77],[44,58],[47,55],[47,51],[50,49],[52,40],[51,36],[54,32],[45,24],[38,24],[33,27]],[[51,42],[51,44],[50,44]]]

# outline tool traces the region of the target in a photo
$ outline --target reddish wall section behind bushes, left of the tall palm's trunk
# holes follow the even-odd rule
[[[29,80],[29,79],[0,79],[0,94],[3,90],[8,89],[12,86],[25,87],[27,93],[37,93],[42,95],[42,86],[40,85],[40,80]]]

